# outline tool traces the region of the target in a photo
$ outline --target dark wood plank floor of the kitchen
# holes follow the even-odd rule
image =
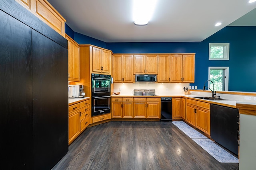
[[[238,170],[171,122],[111,121],[86,129],[53,170]]]

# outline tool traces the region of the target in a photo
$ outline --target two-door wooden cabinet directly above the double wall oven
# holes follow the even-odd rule
[[[111,51],[92,47],[92,72],[110,73]]]

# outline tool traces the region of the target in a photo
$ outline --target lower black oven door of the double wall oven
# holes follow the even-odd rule
[[[92,97],[92,116],[110,113],[110,96]]]

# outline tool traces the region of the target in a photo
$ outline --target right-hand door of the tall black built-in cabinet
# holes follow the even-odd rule
[[[68,50],[34,30],[32,49],[34,167],[45,170],[68,151]]]

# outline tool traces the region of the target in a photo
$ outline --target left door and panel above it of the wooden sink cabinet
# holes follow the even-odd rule
[[[196,127],[196,100],[186,99],[186,121]]]

